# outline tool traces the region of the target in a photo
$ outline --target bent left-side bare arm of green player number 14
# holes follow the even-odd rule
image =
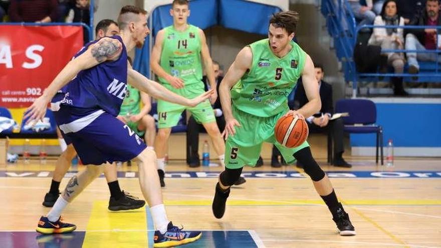
[[[180,78],[171,76],[164,69],[162,69],[161,65],[159,65],[159,62],[161,61],[163,42],[164,42],[164,30],[161,30],[156,35],[155,45],[153,46],[150,57],[150,68],[152,69],[154,74],[158,75],[158,77],[167,80],[167,82],[170,83],[170,85],[173,86],[174,88],[176,89],[182,88],[184,87],[184,81],[182,81],[182,79]]]

